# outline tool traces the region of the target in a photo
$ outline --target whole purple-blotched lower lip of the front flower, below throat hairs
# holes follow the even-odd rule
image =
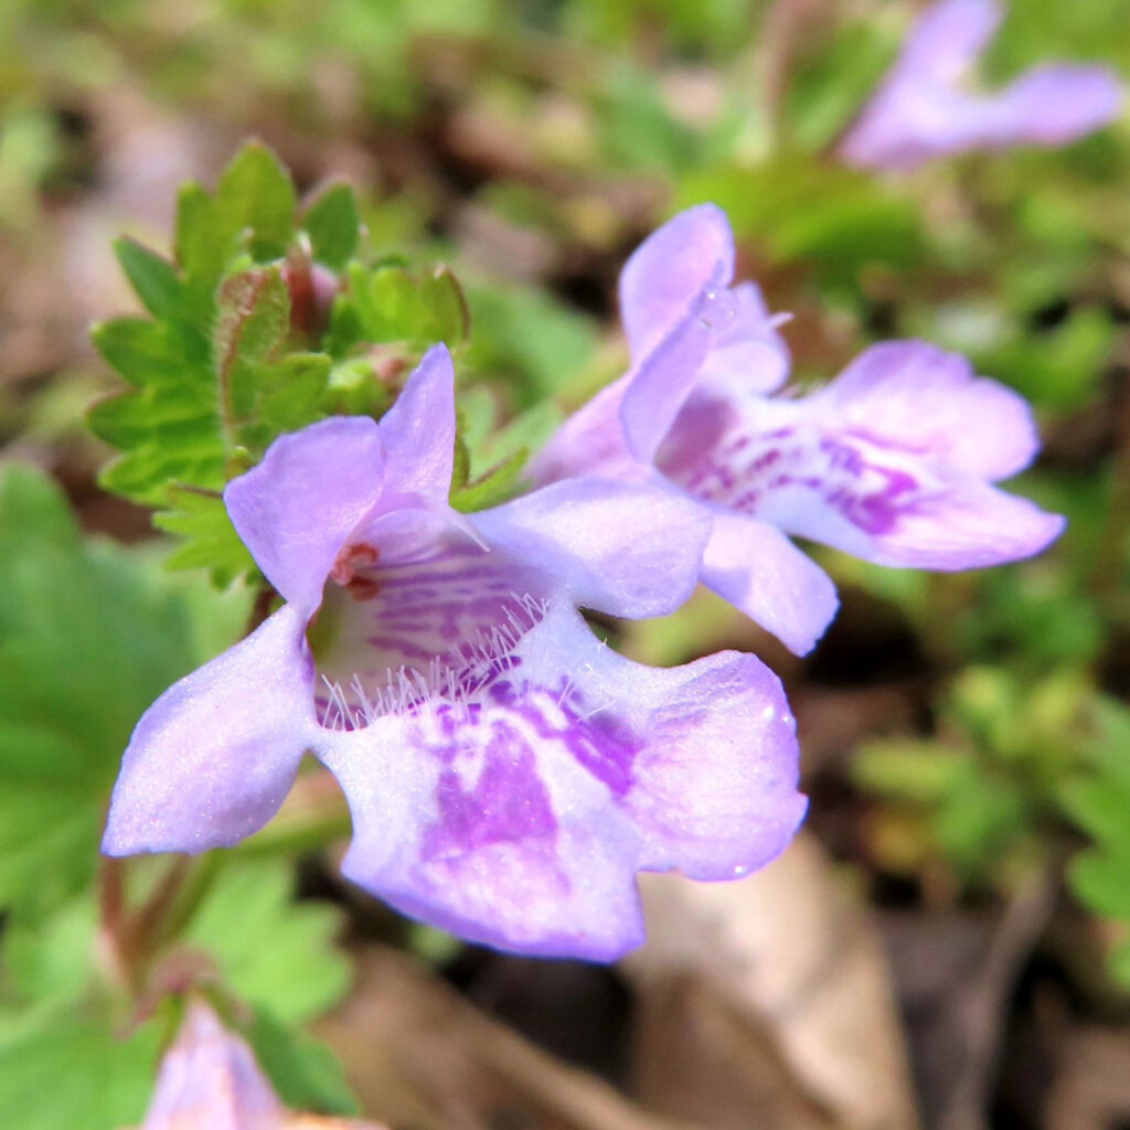
[[[354,817],[346,875],[463,937],[546,956],[619,956],[643,938],[636,870],[733,878],[803,812],[792,720],[756,660],[653,671],[563,606],[484,694],[328,732],[319,755]]]

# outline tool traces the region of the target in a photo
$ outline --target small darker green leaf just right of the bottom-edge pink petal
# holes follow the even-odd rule
[[[243,1035],[287,1106],[319,1114],[360,1113],[341,1061],[321,1041],[288,1028],[263,1008],[254,1010]]]

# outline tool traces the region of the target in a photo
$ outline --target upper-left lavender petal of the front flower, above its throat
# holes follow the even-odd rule
[[[334,417],[284,435],[234,479],[224,502],[268,581],[304,617],[333,562],[381,496],[384,445],[367,416]]]

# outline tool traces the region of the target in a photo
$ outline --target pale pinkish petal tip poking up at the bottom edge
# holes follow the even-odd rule
[[[284,1130],[286,1116],[246,1042],[207,1005],[191,1001],[141,1130]]]

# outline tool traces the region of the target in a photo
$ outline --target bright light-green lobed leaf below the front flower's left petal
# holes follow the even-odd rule
[[[349,985],[349,963],[333,944],[339,929],[334,907],[295,903],[287,862],[237,857],[186,937],[216,958],[237,996],[295,1024],[324,1011]]]

